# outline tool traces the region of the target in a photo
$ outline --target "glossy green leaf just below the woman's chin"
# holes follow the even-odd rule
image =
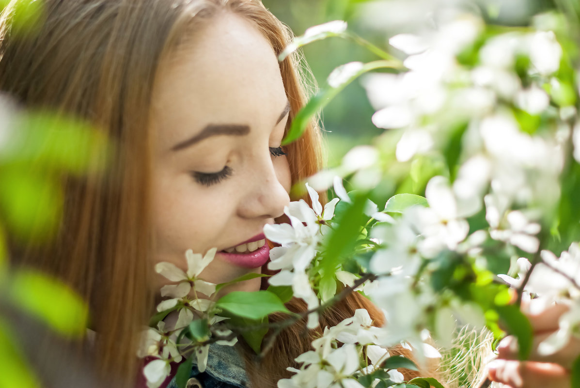
[[[259,320],[276,311],[289,313],[284,303],[270,291],[234,291],[222,296],[216,302],[219,309],[230,311],[237,316]]]

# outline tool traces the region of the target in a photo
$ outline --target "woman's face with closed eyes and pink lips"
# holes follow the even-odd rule
[[[157,262],[185,269],[187,249],[215,247],[202,279],[220,283],[260,271],[264,224],[289,202],[280,148],[288,110],[273,48],[240,16],[214,17],[166,60],[151,117]]]

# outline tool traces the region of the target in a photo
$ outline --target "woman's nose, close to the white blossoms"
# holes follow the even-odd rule
[[[290,171],[286,159],[273,162],[268,158],[261,168],[252,170],[247,187],[240,188],[247,194],[242,196],[238,214],[247,219],[280,217],[290,202],[289,185]]]

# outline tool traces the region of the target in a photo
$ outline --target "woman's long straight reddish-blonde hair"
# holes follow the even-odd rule
[[[52,243],[12,248],[23,263],[55,274],[89,301],[99,337],[97,365],[104,375],[130,384],[137,368],[136,333],[154,306],[148,291],[150,190],[143,188],[151,184],[146,129],[160,63],[194,33],[198,20],[211,20],[223,10],[252,21],[277,54],[292,33],[258,0],[45,0],[39,26],[16,34],[11,22],[17,2],[10,2],[0,18],[0,90],[27,108],[85,119],[115,147],[107,155],[111,168],[105,175],[60,177],[64,211]],[[297,55],[280,63],[291,104],[289,123],[306,101],[305,68]],[[313,120],[287,147],[293,183],[321,167],[317,123]],[[290,304],[304,308],[298,300]],[[322,322],[336,324],[358,307],[367,307],[382,324],[381,314],[358,294],[325,313]],[[277,379],[288,376],[285,368],[310,346],[301,333],[300,328],[282,333],[273,348],[280,356],[266,361],[269,373],[260,376],[249,368],[256,385],[276,386]]]

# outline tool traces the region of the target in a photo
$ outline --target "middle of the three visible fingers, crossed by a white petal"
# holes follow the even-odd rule
[[[532,353],[528,360],[539,361],[539,362],[553,362],[555,364],[560,364],[564,368],[570,369],[572,363],[578,355],[580,354],[580,340],[574,336],[570,337],[567,345],[565,345],[559,351],[553,354],[539,354],[538,345],[543,342],[551,333],[543,333],[534,336],[532,343]],[[498,358],[503,358],[505,360],[517,360],[519,358],[517,340],[513,336],[507,336],[502,339],[497,347]]]

